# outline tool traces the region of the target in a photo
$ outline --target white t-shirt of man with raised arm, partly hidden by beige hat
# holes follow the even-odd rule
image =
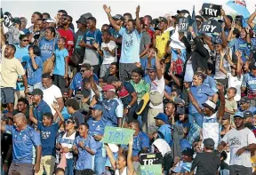
[[[164,98],[164,86],[165,86],[164,76],[162,76],[160,80],[158,80],[157,77],[156,77],[156,80],[154,80],[153,82],[150,83],[150,91],[158,91],[159,93],[162,94],[162,96]],[[149,107],[152,107],[152,108],[162,108],[163,109],[164,108],[164,104],[162,102],[160,105],[154,106],[151,103],[151,101],[150,101]]]

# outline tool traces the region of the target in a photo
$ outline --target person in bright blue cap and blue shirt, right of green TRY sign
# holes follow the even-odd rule
[[[171,145],[171,126],[168,124],[168,116],[164,113],[159,113],[154,117],[154,119],[158,130],[153,135],[149,135],[149,139],[164,139],[169,145]]]

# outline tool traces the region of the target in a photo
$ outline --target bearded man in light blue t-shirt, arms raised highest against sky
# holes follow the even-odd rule
[[[108,14],[110,24],[123,36],[119,69],[120,80],[131,79],[132,70],[136,68],[134,63],[140,62],[140,6],[136,9],[136,22],[128,20],[125,28],[116,25],[110,14],[111,10],[106,4],[103,5],[103,8]]]

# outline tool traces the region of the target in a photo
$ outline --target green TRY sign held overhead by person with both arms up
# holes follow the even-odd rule
[[[131,129],[106,126],[101,142],[127,145],[134,132]]]

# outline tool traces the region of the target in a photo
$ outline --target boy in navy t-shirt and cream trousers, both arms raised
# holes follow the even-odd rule
[[[44,170],[46,174],[52,174],[54,171],[56,161],[56,136],[60,129],[60,125],[64,122],[64,118],[59,111],[57,102],[53,102],[52,107],[60,117],[60,121],[58,123],[54,123],[52,113],[45,113],[43,115],[42,123],[38,122],[33,115],[29,115],[29,119],[37,125],[42,141],[42,166],[40,166],[38,174],[43,174]]]

